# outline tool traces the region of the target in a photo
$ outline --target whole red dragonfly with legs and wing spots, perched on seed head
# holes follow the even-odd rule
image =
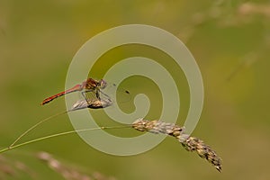
[[[85,97],[85,101],[91,101],[89,97],[86,97],[86,94],[94,94],[94,97],[91,97],[91,99],[96,98],[97,100],[101,101],[111,101],[111,97],[108,94],[103,93],[103,89],[108,86],[108,83],[103,80],[95,80],[94,78],[87,78],[83,83],[75,85],[71,87],[70,89],[67,89],[66,91],[63,91],[58,94],[54,94],[46,99],[44,99],[40,104],[44,105],[46,103],[49,103],[58,97],[74,92],[81,92],[81,94]],[[112,86],[116,86],[115,84],[112,84]],[[123,90],[124,94],[130,94],[128,90]],[[102,98],[103,96],[103,98]]]

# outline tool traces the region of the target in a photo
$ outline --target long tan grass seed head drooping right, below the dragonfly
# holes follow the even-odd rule
[[[162,133],[173,136],[180,141],[183,147],[188,151],[196,151],[197,154],[208,160],[218,171],[221,172],[221,158],[210,146],[204,144],[201,139],[184,134],[184,128],[174,123],[164,121],[148,121],[139,119],[132,123],[132,128],[139,131],[148,131],[152,133]]]

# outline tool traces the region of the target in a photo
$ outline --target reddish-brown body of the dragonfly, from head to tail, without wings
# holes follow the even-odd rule
[[[52,95],[46,99],[44,99],[42,101],[42,103],[40,103],[41,105],[44,105],[45,103],[49,103],[52,100],[58,98],[59,96],[65,95],[65,94],[69,94],[69,93],[73,93],[73,92],[94,92],[96,97],[99,98],[99,91],[100,89],[105,88],[106,86],[106,82],[101,79],[101,80],[94,80],[93,78],[87,78],[82,84],[80,85],[75,85],[74,87],[67,89],[64,92]]]

